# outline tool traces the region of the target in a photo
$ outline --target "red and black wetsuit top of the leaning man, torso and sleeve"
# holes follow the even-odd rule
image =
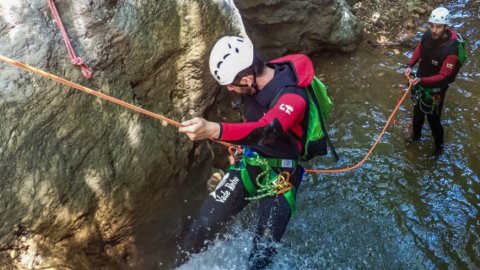
[[[307,94],[297,86],[296,73],[289,63],[267,64],[274,78],[255,95],[244,96],[245,123],[221,123],[220,140],[250,148],[265,157],[297,159],[303,151]],[[277,102],[271,102],[282,91]],[[296,147],[291,141],[292,132]]]

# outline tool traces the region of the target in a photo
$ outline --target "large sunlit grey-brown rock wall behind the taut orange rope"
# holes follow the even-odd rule
[[[92,80],[70,63],[44,0],[0,3],[0,54],[175,120],[211,105],[210,48],[241,31],[229,1],[56,2]],[[8,269],[134,266],[137,224],[156,216],[155,234],[171,247],[188,213],[179,202],[207,178],[188,174],[210,158],[175,127],[3,63],[0,126]]]

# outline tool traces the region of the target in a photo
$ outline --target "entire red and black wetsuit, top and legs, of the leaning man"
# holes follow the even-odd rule
[[[313,74],[313,66],[309,63]],[[264,157],[297,159],[298,153],[303,151],[305,140],[307,94],[296,86],[297,73],[290,63],[269,63],[268,66],[275,70],[273,79],[255,95],[244,97],[246,122],[221,123],[220,140],[249,146],[250,150]],[[275,102],[278,93],[281,94]],[[287,135],[288,132],[297,138],[295,143],[290,139],[292,136]],[[258,189],[255,179],[263,171],[260,167],[250,165],[246,169]],[[288,171],[291,174],[289,181],[295,187],[295,192],[298,191],[303,176],[300,166],[274,169]],[[183,241],[183,251],[200,251],[206,240],[213,239],[221,226],[250,202],[246,199],[249,194],[242,179],[238,167],[226,172],[190,226]],[[258,204],[259,221],[248,269],[264,269],[270,264],[276,252],[275,242],[281,240],[291,217],[290,206],[282,194],[259,199]]]

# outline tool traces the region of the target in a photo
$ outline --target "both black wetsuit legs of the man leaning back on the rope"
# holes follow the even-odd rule
[[[251,179],[261,170],[248,167]],[[303,169],[297,168],[290,177],[296,190],[300,186]],[[254,181],[254,180],[253,180]],[[204,201],[200,214],[193,221],[182,245],[182,251],[198,253],[205,247],[205,241],[215,234],[248,203],[248,193],[243,186],[240,171],[232,170],[222,179],[216,190]],[[259,201],[259,222],[253,239],[249,269],[264,269],[272,261],[276,248],[285,233],[291,217],[290,206],[283,195],[266,197]]]

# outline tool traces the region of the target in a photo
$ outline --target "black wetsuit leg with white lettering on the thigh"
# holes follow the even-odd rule
[[[219,229],[248,204],[246,196],[240,171],[227,172],[203,202],[183,241],[182,252],[198,253],[205,248],[205,241],[212,240]]]

